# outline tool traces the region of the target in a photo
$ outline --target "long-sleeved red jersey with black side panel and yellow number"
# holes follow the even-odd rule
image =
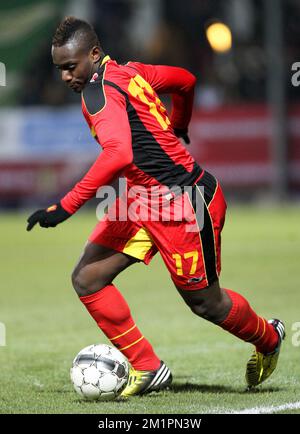
[[[62,206],[74,213],[120,175],[128,187],[193,185],[202,169],[173,129],[188,127],[195,82],[183,68],[119,65],[106,56],[82,92],[84,117],[103,151]],[[159,93],[172,97],[170,119]]]

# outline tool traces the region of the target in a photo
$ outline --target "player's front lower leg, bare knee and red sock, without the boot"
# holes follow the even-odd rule
[[[136,259],[88,243],[72,275],[73,286],[89,314],[111,343],[139,371],[156,370],[160,359],[135,324],[129,306],[111,284]]]

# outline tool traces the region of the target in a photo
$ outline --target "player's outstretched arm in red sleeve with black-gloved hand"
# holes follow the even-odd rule
[[[85,176],[59,203],[47,209],[40,209],[28,218],[28,231],[37,223],[43,228],[55,227],[62,223],[94,197],[99,187],[110,184],[131,164],[133,153],[125,98],[109,87],[105,101],[105,107],[98,110],[95,115],[90,114],[103,152]]]

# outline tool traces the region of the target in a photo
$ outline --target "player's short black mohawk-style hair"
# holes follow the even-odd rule
[[[98,36],[91,24],[75,17],[66,17],[57,27],[52,38],[52,45],[54,47],[62,47],[72,39],[81,40],[86,50],[90,50],[96,46],[103,51]]]

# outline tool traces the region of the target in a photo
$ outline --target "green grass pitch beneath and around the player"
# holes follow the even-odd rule
[[[0,322],[6,326],[6,346],[0,347],[0,413],[201,414],[299,401],[300,346],[293,346],[291,331],[300,321],[299,211],[230,207],[223,232],[221,284],[287,327],[277,370],[259,392],[245,392],[252,346],[193,315],[157,257],[149,267],[132,266],[115,283],[171,368],[173,385],[169,391],[107,403],[81,400],[69,379],[80,349],[107,342],[70,282],[96,222],[94,213],[81,212],[56,229],[36,227],[31,233],[25,230],[27,215],[1,215]]]

